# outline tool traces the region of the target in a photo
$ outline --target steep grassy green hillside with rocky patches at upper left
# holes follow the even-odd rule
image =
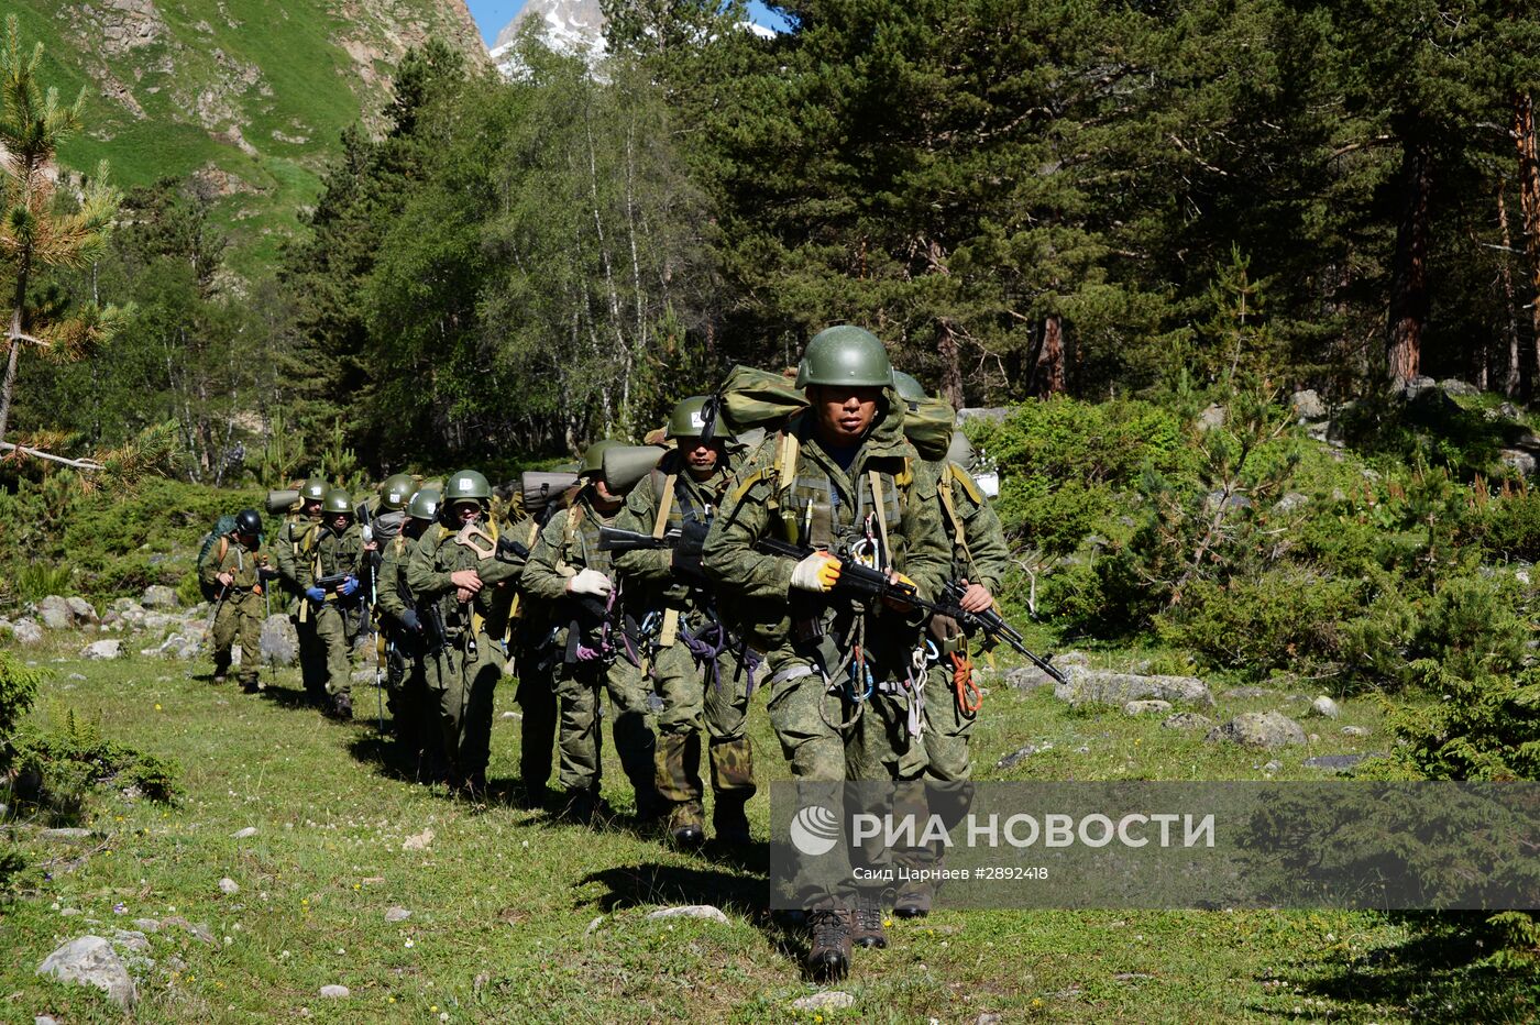
[[[86,89],[88,131],[62,162],[109,160],[122,186],[197,175],[219,195],[233,268],[266,266],[319,192],[342,129],[371,117],[413,43],[480,58],[460,0],[108,0],[11,5],[45,45],[43,80]]]

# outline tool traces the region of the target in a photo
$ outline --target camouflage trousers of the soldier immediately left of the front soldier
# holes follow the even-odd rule
[[[679,814],[698,819],[701,797],[701,734],[707,734],[711,791],[718,805],[755,796],[753,746],[748,725],[748,674],[732,653],[710,666],[696,662],[684,642],[658,651],[653,682],[664,708],[658,713],[658,796]]]

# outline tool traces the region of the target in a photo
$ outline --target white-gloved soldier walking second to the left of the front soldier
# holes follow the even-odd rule
[[[561,773],[565,814],[590,822],[599,800],[599,691],[610,693],[614,750],[636,790],[638,819],[658,813],[653,786],[653,731],[647,691],[627,651],[625,605],[611,577],[610,553],[599,549],[599,526],[613,525],[624,496],[604,480],[604,452],[618,442],[594,442],[584,452],[582,489],[541,531],[524,571],[524,593],[550,606],[553,629],[544,649],[559,708]]]

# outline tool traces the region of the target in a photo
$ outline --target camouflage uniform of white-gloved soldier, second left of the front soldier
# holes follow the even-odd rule
[[[590,486],[591,488],[591,486]],[[624,651],[621,631],[611,631],[619,649],[604,651],[598,616],[584,611],[584,602],[567,593],[567,582],[581,569],[611,577],[610,553],[599,551],[599,526],[613,523],[614,514],[601,514],[584,488],[571,508],[559,511],[541,531],[524,573],[524,591],[547,603],[553,628],[542,645],[544,665],[553,680],[559,706],[559,746],[562,788],[574,799],[599,796],[599,689],[610,693],[614,750],[631,786],[642,817],[656,811],[653,786],[653,731],[647,725],[647,689],[641,669]],[[616,599],[619,600],[619,599]],[[573,631],[578,631],[576,636]],[[591,653],[591,657],[590,657]]]

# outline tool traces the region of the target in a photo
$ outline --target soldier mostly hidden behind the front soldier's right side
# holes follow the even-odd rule
[[[893,379],[904,402],[933,402],[909,374],[895,371]],[[995,605],[993,596],[999,593],[1010,566],[1010,549],[999,517],[969,474],[973,462],[967,436],[953,428],[946,456],[926,462],[922,469],[936,483],[941,522],[952,546],[950,579],[966,586],[959,605],[967,613],[983,613]],[[981,700],[972,679],[967,637],[958,620],[932,616],[927,633],[924,779],[929,782],[929,796],[939,802],[930,810],[941,814],[950,826],[967,813],[967,783],[972,779],[967,745]],[[938,860],[939,851],[901,851],[898,857],[929,865]],[[933,897],[932,883],[906,882],[898,888],[893,914],[901,919],[924,917],[930,914]]]

